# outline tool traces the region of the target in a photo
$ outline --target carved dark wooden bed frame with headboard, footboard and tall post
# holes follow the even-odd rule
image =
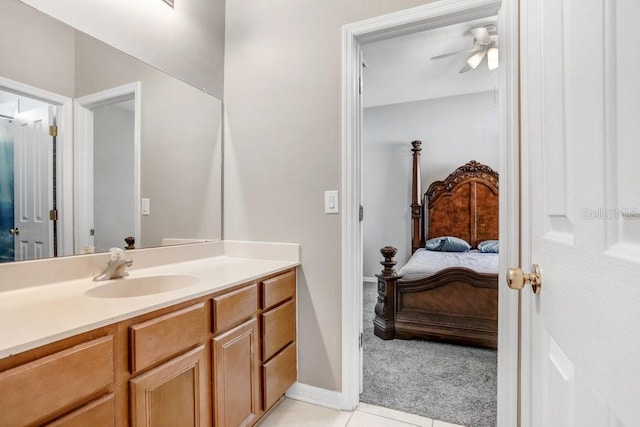
[[[470,161],[422,196],[420,141],[413,141],[411,253],[432,237],[456,236],[472,247],[498,239],[498,174]],[[425,209],[426,207],[426,209]],[[425,338],[496,348],[498,277],[461,267],[404,280],[395,271],[397,250],[380,250],[374,333],[385,340]]]

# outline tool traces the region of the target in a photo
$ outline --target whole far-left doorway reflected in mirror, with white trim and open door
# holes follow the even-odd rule
[[[71,253],[70,105],[0,78],[0,262]]]

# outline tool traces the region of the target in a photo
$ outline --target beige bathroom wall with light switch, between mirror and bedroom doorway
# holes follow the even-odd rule
[[[226,239],[302,245],[299,381],[341,389],[341,27],[426,0],[227,2]]]

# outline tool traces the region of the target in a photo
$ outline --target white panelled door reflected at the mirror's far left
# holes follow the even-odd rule
[[[20,113],[16,117],[14,147],[14,228],[16,260],[53,255],[53,147],[49,126],[52,107]]]

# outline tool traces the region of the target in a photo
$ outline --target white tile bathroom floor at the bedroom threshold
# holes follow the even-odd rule
[[[260,427],[463,427],[381,406],[361,403],[353,412],[284,399]]]

